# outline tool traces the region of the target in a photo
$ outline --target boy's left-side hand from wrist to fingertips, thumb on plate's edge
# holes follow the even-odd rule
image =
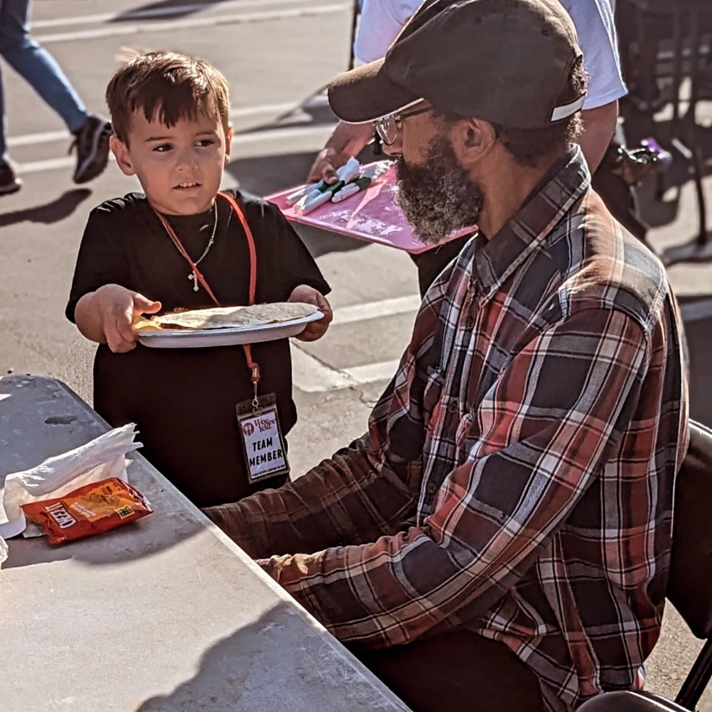
[[[155,314],[160,302],[117,284],[105,284],[95,291],[93,307],[98,313],[108,347],[114,353],[125,353],[136,347],[138,334],[133,330],[135,315]]]

